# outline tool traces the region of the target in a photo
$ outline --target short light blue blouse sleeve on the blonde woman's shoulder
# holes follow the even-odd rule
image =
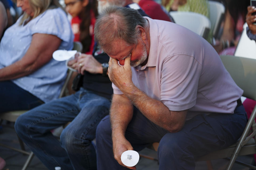
[[[73,41],[73,33],[66,13],[61,8],[49,9],[35,18],[30,27],[31,34],[43,33],[56,35],[69,43]]]

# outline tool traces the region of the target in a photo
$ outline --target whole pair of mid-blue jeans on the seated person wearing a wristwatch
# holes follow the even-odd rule
[[[109,99],[81,88],[22,114],[15,122],[15,130],[48,169],[96,169],[91,141],[109,107]],[[59,142],[50,130],[67,122],[71,123],[62,131]]]

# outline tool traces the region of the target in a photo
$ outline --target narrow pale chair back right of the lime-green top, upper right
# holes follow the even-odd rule
[[[213,37],[217,38],[221,22],[225,18],[225,7],[222,3],[217,1],[208,1],[208,3],[211,31],[213,33]]]

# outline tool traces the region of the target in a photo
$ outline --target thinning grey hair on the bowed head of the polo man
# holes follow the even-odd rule
[[[108,53],[111,42],[123,40],[127,46],[137,44],[140,35],[138,25],[148,27],[147,20],[137,10],[125,7],[106,7],[97,17],[94,39]]]

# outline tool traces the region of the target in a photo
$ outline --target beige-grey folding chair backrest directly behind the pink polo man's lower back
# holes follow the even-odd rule
[[[236,56],[220,56],[225,68],[243,89],[243,96],[256,100],[256,60]]]

